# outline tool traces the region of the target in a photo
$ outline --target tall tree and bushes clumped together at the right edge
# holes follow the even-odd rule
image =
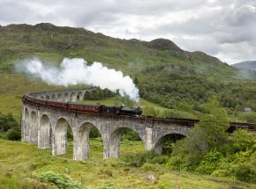
[[[167,163],[169,169],[234,176],[255,183],[256,136],[245,130],[227,134],[227,113],[216,98],[203,107],[205,112],[200,116],[200,123],[187,138],[173,144]]]

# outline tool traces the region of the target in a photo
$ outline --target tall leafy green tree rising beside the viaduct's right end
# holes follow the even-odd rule
[[[195,166],[211,150],[222,151],[223,144],[228,142],[229,121],[225,109],[217,98],[212,97],[203,105],[204,114],[200,122],[190,131],[183,142],[178,142],[173,156],[181,156],[185,164]]]

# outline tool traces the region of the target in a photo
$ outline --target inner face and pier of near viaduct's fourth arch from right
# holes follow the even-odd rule
[[[56,120],[56,125],[54,127],[54,140],[52,155],[63,155],[67,152],[67,129],[72,127],[69,121],[65,118],[59,118]],[[73,130],[72,130],[73,134]],[[74,146],[75,148],[75,146]]]

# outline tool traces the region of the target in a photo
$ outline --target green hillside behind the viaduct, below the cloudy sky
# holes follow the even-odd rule
[[[120,40],[83,28],[43,23],[0,26],[2,94],[56,89],[15,73],[15,62],[35,56],[53,64],[64,57],[84,58],[89,64],[102,62],[132,76],[142,98],[168,108],[186,101],[198,110],[216,94],[227,108],[256,110],[255,74],[241,75],[215,57],[184,51],[170,40]]]

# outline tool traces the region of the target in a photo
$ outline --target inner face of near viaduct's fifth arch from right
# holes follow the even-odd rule
[[[39,149],[49,149],[52,143],[52,126],[47,114],[42,114],[39,130]]]

